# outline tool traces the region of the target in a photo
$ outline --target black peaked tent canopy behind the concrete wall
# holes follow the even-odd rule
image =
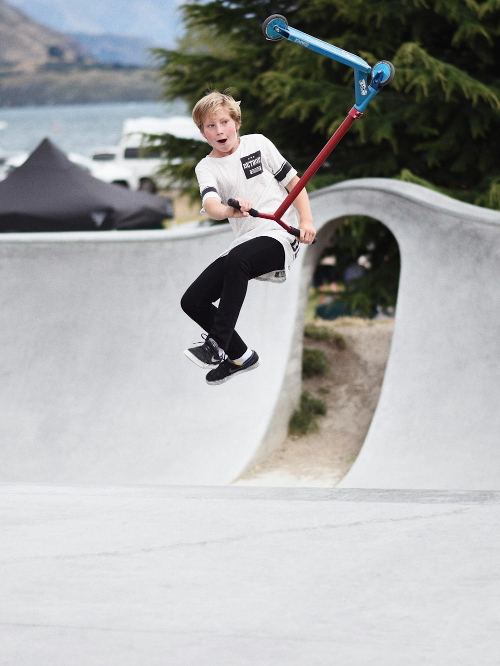
[[[49,139],[0,182],[0,232],[154,228],[172,216],[169,198],[98,180]]]

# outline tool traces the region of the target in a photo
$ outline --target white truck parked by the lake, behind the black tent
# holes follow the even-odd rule
[[[165,165],[168,156],[160,151],[155,153],[154,144],[149,143],[148,137],[165,134],[171,134],[179,139],[205,141],[193,119],[188,116],[130,118],[123,123],[118,145],[111,149],[94,151],[92,159],[112,161],[116,165],[127,166],[137,179],[139,189],[156,192],[165,184],[158,170]]]

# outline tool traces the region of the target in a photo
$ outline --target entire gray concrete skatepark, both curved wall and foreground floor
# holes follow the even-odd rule
[[[0,666],[500,663],[500,214],[373,179],[312,202],[317,245],[249,290],[261,368],[217,388],[178,302],[227,229],[0,238]],[[368,213],[403,266],[345,487],[217,487],[283,438],[315,263]]]

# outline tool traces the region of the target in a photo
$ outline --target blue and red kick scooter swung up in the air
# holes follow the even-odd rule
[[[288,196],[285,197],[281,205],[273,214],[258,212],[255,208],[252,208],[249,211],[252,217],[274,220],[287,230],[287,232],[298,238],[300,236],[299,230],[293,226],[289,226],[286,222],[283,222],[281,216],[295,201],[299,192],[305,188],[309,180],[311,180],[313,175],[317,172],[325,159],[327,159],[331,151],[333,151],[351,125],[361,118],[363,111],[365,111],[372,99],[383,87],[391,83],[394,77],[394,67],[392,63],[389,63],[387,60],[381,60],[376,65],[373,65],[373,67],[370,67],[370,65],[359,56],[290,27],[287,23],[287,19],[285,19],[284,16],[281,16],[281,14],[273,14],[267,17],[262,25],[262,31],[268,41],[288,39],[305,49],[310,49],[311,51],[325,55],[327,58],[331,58],[343,65],[347,65],[347,67],[352,67],[354,70],[355,105],[351,111],[349,111],[347,117],[343,123],[341,123],[337,131],[335,131],[331,139],[329,139],[323,150],[305,170],[299,179],[299,182],[297,182],[295,187],[289,192]],[[367,79],[369,74],[371,75],[370,83],[368,83]],[[235,199],[229,199],[227,204],[239,210],[239,204]],[[313,240],[313,242],[316,241]]]

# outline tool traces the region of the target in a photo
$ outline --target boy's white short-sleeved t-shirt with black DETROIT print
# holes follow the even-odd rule
[[[261,134],[249,134],[240,138],[237,150],[225,157],[204,157],[196,166],[196,176],[203,206],[208,198],[215,197],[223,204],[231,197],[245,198],[259,212],[273,214],[287,195],[287,185],[297,171],[280,155],[269,139]],[[205,212],[205,208],[201,209]],[[283,216],[283,222],[297,226],[297,213],[291,205]],[[271,282],[287,279],[299,242],[274,220],[256,217],[229,218],[236,233],[235,240],[220,256],[233,247],[258,236],[270,236],[279,240],[285,249],[283,270],[273,271],[256,278]]]

